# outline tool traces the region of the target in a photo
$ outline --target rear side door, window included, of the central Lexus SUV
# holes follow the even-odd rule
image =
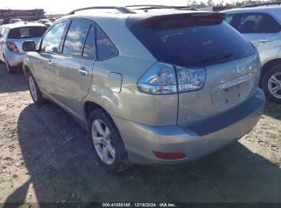
[[[82,99],[88,95],[96,62],[95,23],[70,22],[62,53],[55,59],[55,99],[83,121]]]

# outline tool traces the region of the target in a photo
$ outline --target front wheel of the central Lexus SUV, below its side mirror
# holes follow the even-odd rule
[[[36,83],[30,70],[27,71],[27,83],[31,98],[34,103],[36,105],[43,105],[47,103],[48,100],[43,98],[40,88],[38,87],[38,84]]]

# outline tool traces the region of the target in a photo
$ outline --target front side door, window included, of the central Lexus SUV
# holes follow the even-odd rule
[[[67,21],[56,23],[43,36],[37,53],[33,53],[32,66],[34,77],[43,92],[49,95],[55,93],[55,57],[59,53],[59,47],[66,29]]]

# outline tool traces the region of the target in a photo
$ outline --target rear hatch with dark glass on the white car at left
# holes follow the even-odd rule
[[[16,27],[9,31],[6,42],[14,42],[18,48],[19,53],[25,53],[23,51],[23,42],[26,40],[34,40],[38,44],[40,38],[46,31],[46,27],[40,26],[27,26],[27,27]]]

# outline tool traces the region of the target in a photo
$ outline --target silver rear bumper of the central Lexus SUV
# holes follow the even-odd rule
[[[254,105],[252,105],[254,103]],[[251,99],[232,109],[237,114],[234,119],[226,113],[219,118],[222,124],[212,125],[213,120],[198,127],[181,128],[178,126],[152,127],[112,116],[124,141],[128,159],[134,164],[180,164],[193,161],[212,153],[230,142],[238,140],[249,132],[263,114],[265,95],[257,89]],[[222,116],[220,116],[222,117]],[[215,120],[215,119],[214,119]],[[228,122],[226,122],[226,120]],[[211,126],[210,128],[206,128]],[[201,131],[202,130],[202,131]],[[152,151],[163,153],[185,153],[187,158],[163,160],[157,158]]]

